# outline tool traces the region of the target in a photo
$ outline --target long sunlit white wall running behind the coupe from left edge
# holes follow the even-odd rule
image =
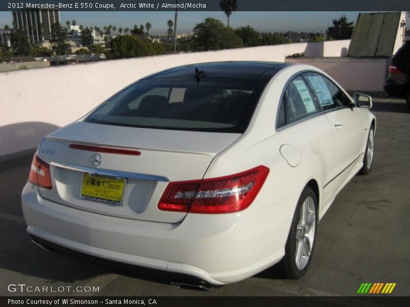
[[[323,46],[326,54],[340,55],[341,46],[348,43],[304,42],[1,73],[0,157],[36,147],[43,136],[85,115],[142,76],[197,62],[284,61],[285,56],[301,52],[321,56]]]

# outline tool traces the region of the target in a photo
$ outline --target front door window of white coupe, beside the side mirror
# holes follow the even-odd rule
[[[324,111],[350,106],[351,100],[331,80],[317,73],[305,73],[303,76],[315,92]]]

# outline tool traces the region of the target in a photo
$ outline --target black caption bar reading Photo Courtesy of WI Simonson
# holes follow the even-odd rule
[[[131,301],[131,303],[130,303]],[[134,303],[133,303],[134,301]],[[393,296],[366,296],[366,297],[323,297],[323,296],[141,296],[141,297],[57,297],[57,296],[3,296],[0,298],[1,306],[155,306],[155,307],[272,307],[272,306],[405,306],[408,304],[409,297]]]

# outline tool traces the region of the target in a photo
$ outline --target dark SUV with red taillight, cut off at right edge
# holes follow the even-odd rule
[[[410,40],[393,56],[383,87],[388,96],[406,98],[410,107]]]

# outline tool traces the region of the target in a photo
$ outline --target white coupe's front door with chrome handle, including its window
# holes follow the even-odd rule
[[[352,177],[352,169],[361,157],[363,117],[352,100],[329,78],[318,73],[304,73],[333,129],[334,185],[336,192]]]

